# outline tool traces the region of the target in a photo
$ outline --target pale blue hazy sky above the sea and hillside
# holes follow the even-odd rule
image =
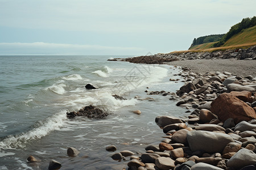
[[[0,0],[0,55],[187,50],[253,17],[255,0]]]

